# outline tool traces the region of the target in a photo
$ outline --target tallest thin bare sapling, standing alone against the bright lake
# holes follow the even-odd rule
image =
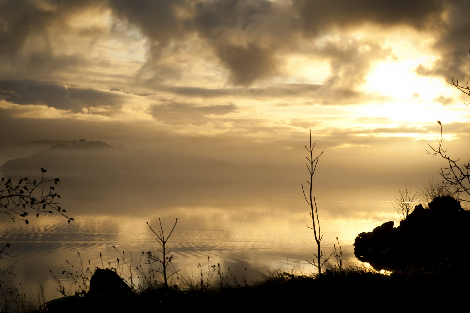
[[[313,253],[315,258],[317,259],[316,263],[314,259],[312,260],[312,262],[310,262],[309,260],[307,260],[307,262],[312,264],[314,267],[317,267],[318,274],[321,275],[321,267],[325,264],[325,262],[328,261],[328,259],[333,254],[331,253],[328,258],[324,258],[323,262],[321,261],[321,257],[324,256],[320,247],[321,239],[323,239],[323,236],[321,235],[320,220],[318,219],[318,209],[317,209],[317,202],[315,200],[315,197],[313,197],[313,200],[312,200],[313,174],[315,174],[315,169],[317,168],[318,160],[321,154],[323,154],[323,151],[316,158],[313,159],[313,148],[315,147],[315,144],[312,145],[312,130],[310,130],[310,145],[309,145],[310,148],[307,148],[306,145],[304,146],[305,146],[305,149],[307,149],[307,151],[310,153],[310,159],[308,157],[305,157],[310,163],[310,166],[307,164],[308,172],[310,173],[310,182],[307,181],[307,183],[310,184],[310,201],[305,196],[304,184],[301,184],[301,185],[302,185],[302,191],[304,193],[305,201],[307,201],[308,205],[310,206],[310,216],[312,217],[313,227],[309,227],[308,225],[305,225],[305,226],[307,226],[307,228],[309,229],[313,229],[313,235],[315,237],[315,242],[317,243],[317,248],[318,248],[317,254]],[[315,212],[313,212],[313,205],[315,205]],[[316,218],[316,221],[315,221],[315,218]],[[317,226],[318,226],[318,232],[317,232]]]

